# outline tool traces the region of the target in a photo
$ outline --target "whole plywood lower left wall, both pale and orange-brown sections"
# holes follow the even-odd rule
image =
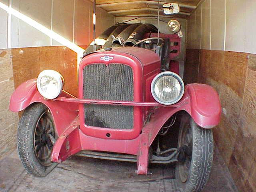
[[[37,78],[42,70],[52,69],[64,77],[64,90],[78,96],[77,56],[65,46],[30,47],[0,50],[0,159],[16,149],[18,114],[9,110],[14,89],[26,80]]]

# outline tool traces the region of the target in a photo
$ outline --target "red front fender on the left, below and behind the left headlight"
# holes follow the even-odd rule
[[[69,98],[72,97],[70,94],[64,91],[62,91],[60,96]],[[50,109],[58,136],[60,136],[62,132],[64,132],[64,130],[78,116],[77,103],[53,101],[45,99],[43,96],[41,96],[36,88],[36,79],[28,80],[16,88],[10,98],[9,109],[12,112],[19,112],[35,102],[41,102]]]

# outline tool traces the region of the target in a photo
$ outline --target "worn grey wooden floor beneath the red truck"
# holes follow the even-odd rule
[[[136,163],[73,156],[48,176],[24,170],[17,152],[0,161],[1,192],[179,192],[173,165],[150,165],[151,174],[136,175]],[[237,192],[217,150],[204,192]]]

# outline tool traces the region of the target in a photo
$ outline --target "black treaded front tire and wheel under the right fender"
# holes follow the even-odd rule
[[[180,150],[180,161],[175,170],[176,184],[182,192],[200,192],[205,187],[212,168],[212,130],[201,128],[186,114],[180,123],[178,148],[184,146],[185,140],[190,140],[190,144]]]

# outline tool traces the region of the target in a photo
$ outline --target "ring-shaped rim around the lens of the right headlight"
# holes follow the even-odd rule
[[[180,83],[180,87],[181,87],[180,94],[179,94],[178,98],[176,98],[176,100],[174,100],[172,102],[163,102],[163,101],[159,100],[158,96],[156,96],[156,94],[154,92],[154,86],[156,84],[156,80],[158,80],[161,76],[166,76],[166,75],[176,78],[176,80],[178,80],[178,82]],[[171,72],[171,71],[165,71],[165,72],[161,72],[161,73],[157,74],[151,82],[151,94],[152,94],[154,100],[156,100],[156,102],[163,104],[163,105],[173,105],[173,104],[179,102],[184,95],[184,91],[185,91],[185,85],[184,85],[182,78],[178,74]]]

